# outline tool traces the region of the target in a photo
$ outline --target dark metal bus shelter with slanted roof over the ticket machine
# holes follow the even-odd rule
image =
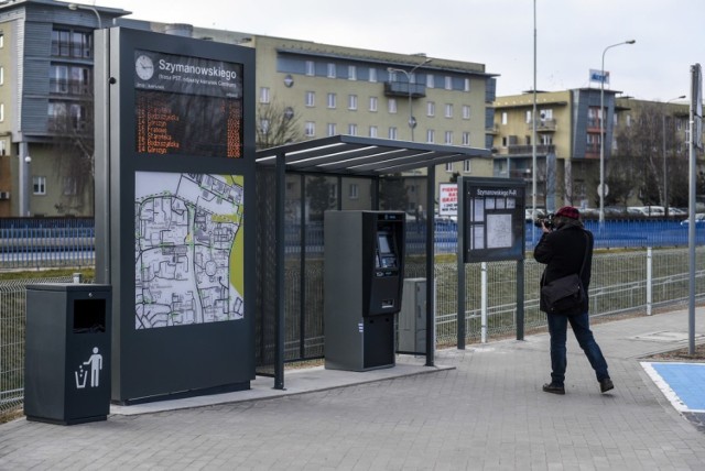
[[[306,185],[324,183],[323,207],[343,207],[343,182],[369,183],[371,210],[380,208],[380,187],[389,179],[425,169],[426,332],[434,331],[435,167],[491,157],[486,149],[437,145],[375,138],[335,135],[257,152],[257,373],[284,388],[285,362],[322,358],[323,329],[315,289],[321,288],[311,253],[321,252],[308,222],[307,202],[316,196]],[[422,171],[422,172],[420,172]],[[326,183],[327,182],[327,183]],[[326,196],[330,190],[334,195]],[[293,196],[292,193],[299,196]],[[323,196],[321,196],[323,195]],[[383,208],[402,210],[406,208]],[[434,338],[426,335],[427,366],[434,365]]]

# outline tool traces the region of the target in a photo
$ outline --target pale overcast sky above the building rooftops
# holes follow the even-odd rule
[[[85,2],[89,3],[89,2]],[[128,18],[476,62],[497,95],[533,87],[534,0],[98,0]],[[690,98],[705,62],[704,0],[535,0],[536,89],[611,87],[647,100]]]

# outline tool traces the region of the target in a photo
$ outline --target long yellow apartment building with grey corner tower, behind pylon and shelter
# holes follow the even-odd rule
[[[76,162],[93,153],[93,32],[102,26],[254,47],[258,112],[282,109],[302,140],[349,134],[492,144],[496,75],[482,64],[128,20],[122,17],[130,12],[99,6],[72,8],[54,0],[0,1],[0,216],[93,215],[93,185],[77,182]],[[258,113],[259,131],[272,125]],[[476,158],[448,164],[436,178],[491,173],[491,160]],[[406,177],[412,210],[425,201],[425,185],[423,175]],[[365,207],[369,186],[345,185],[345,206]]]

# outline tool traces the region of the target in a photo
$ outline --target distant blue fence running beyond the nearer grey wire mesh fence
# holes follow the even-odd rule
[[[585,227],[595,234],[595,247],[665,248],[687,245],[687,224],[680,220],[608,220],[601,226],[587,220]],[[527,223],[527,250],[531,250],[541,231]],[[288,254],[301,251],[305,238],[307,253],[323,253],[323,223],[311,221],[303,228],[288,223],[284,231]],[[426,231],[424,222],[406,222],[406,251],[423,254]],[[705,244],[705,223],[698,224],[696,243]],[[457,224],[449,219],[435,223],[436,253],[455,253]],[[51,269],[93,266],[95,264],[95,228],[93,218],[0,218],[0,269]]]

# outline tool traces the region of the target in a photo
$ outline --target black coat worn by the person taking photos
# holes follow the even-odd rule
[[[587,260],[581,276],[585,288],[585,302],[574,311],[564,313],[566,315],[582,314],[588,309],[587,292],[590,286],[593,244],[593,233],[583,229],[578,221],[570,221],[552,232],[544,233],[533,251],[534,260],[546,265],[541,276],[541,285],[543,286],[562,276],[579,273],[587,247]],[[540,306],[541,310],[547,311],[543,299],[541,299]]]

